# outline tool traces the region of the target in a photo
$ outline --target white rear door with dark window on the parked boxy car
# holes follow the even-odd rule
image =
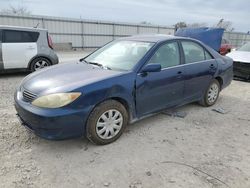
[[[2,53],[5,69],[27,68],[37,55],[39,32],[3,30]]]

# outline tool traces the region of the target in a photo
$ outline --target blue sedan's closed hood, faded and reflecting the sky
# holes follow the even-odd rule
[[[64,63],[30,74],[21,87],[36,95],[67,92],[120,74],[83,62]]]

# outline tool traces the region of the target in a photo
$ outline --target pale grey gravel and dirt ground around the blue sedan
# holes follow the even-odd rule
[[[0,187],[250,187],[250,83],[233,81],[213,107],[186,105],[185,118],[159,114],[95,146],[20,125],[13,93],[25,75],[0,77]]]

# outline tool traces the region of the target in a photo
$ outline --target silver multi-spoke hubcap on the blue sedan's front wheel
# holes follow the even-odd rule
[[[96,123],[96,133],[102,139],[111,139],[121,130],[123,124],[122,114],[115,109],[104,112]]]

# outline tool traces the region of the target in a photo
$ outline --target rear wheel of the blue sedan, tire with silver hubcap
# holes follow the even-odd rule
[[[218,80],[214,79],[208,86],[203,99],[200,101],[200,104],[205,107],[212,106],[216,103],[220,94],[220,83]]]

